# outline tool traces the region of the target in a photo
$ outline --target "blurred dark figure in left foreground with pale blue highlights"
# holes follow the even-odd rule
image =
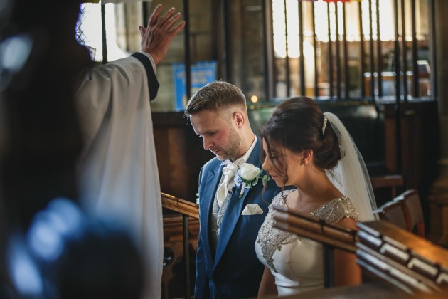
[[[80,0],[0,1],[0,298],[138,298],[122,229],[79,208]]]

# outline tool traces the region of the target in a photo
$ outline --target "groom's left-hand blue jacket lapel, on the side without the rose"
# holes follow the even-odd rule
[[[223,167],[218,164],[218,167],[210,171],[208,177],[206,178],[203,195],[200,194],[202,199],[206,199],[203,204],[201,204],[201,237],[203,240],[204,253],[207,256],[208,261],[213,261],[214,256],[210,248],[210,216],[213,209],[213,201],[215,200],[216,189],[218,189],[218,184],[220,182]],[[214,188],[207,188],[207,186],[214,186]]]

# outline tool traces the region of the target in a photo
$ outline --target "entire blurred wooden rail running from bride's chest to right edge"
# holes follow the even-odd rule
[[[284,207],[275,209],[277,223],[274,227],[321,242],[324,246],[356,252],[363,273],[390,285],[394,292],[398,289],[398,293],[408,296],[434,295],[439,298],[448,290],[448,251],[425,238],[387,221],[358,222],[358,230],[355,230],[326,224],[316,217]]]

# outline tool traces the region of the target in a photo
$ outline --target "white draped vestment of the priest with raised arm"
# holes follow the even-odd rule
[[[128,57],[85,75],[76,95],[84,136],[78,172],[81,203],[129,229],[146,261],[144,298],[161,298],[163,218],[147,63]]]

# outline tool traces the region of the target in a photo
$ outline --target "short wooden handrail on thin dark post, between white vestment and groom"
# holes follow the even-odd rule
[[[183,223],[183,258],[185,261],[185,298],[191,297],[190,290],[190,236],[188,217],[199,219],[199,206],[185,199],[161,192],[162,207],[182,214]]]

